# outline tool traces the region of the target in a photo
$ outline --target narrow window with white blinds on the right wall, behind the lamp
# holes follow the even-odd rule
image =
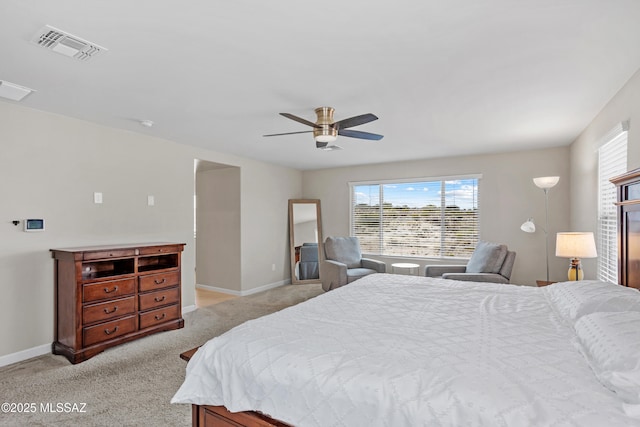
[[[616,187],[609,179],[627,171],[627,123],[604,138],[598,149],[598,280],[618,283]]]

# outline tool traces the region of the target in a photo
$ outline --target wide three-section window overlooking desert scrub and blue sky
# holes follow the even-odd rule
[[[468,258],[478,242],[479,178],[350,183],[351,235],[368,254]]]

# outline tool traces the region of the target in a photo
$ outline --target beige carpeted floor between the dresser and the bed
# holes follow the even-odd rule
[[[180,353],[249,319],[322,293],[320,284],[286,285],[198,309],[185,327],[111,348],[83,363],[45,355],[0,368],[2,426],[189,426],[191,407],[172,405],[184,380]],[[75,405],[74,405],[75,404]]]

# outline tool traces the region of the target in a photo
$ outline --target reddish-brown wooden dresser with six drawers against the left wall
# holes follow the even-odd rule
[[[51,249],[55,260],[53,353],[79,363],[109,347],[182,328],[184,245]]]

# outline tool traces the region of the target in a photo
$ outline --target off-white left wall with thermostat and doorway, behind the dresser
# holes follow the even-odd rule
[[[194,304],[195,158],[241,170],[240,288],[290,279],[287,200],[301,196],[299,171],[8,102],[0,102],[0,141],[0,365],[53,341],[51,248],[184,242],[182,301]],[[93,203],[95,191],[103,204]],[[34,217],[46,220],[45,232],[11,223]]]

